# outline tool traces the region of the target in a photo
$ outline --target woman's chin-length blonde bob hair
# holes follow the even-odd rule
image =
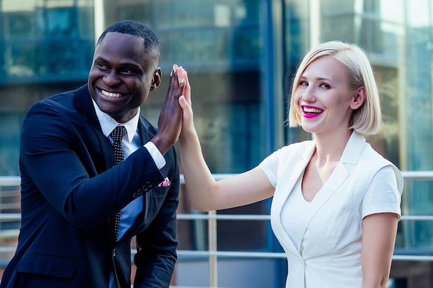
[[[302,123],[301,115],[295,108],[297,106],[294,100],[295,97],[293,97],[302,73],[313,61],[326,55],[334,57],[346,67],[349,85],[353,90],[361,86],[365,87],[365,101],[358,109],[353,111],[348,128],[365,135],[379,133],[382,124],[382,112],[380,111],[380,97],[371,63],[364,50],[360,47],[341,41],[320,44],[309,50],[302,59],[292,82],[288,125],[297,127],[301,126]]]

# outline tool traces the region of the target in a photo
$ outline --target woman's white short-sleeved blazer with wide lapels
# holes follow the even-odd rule
[[[340,162],[315,195],[311,209],[300,219],[298,249],[282,226],[281,212],[314,151],[314,141],[291,144],[260,164],[275,186],[270,215],[273,231],[288,260],[286,288],[361,287],[362,200],[376,173],[391,166],[395,177],[383,179],[390,201],[378,203],[374,213],[400,215],[403,177],[362,135],[353,132]]]

